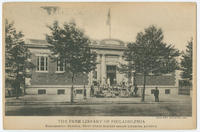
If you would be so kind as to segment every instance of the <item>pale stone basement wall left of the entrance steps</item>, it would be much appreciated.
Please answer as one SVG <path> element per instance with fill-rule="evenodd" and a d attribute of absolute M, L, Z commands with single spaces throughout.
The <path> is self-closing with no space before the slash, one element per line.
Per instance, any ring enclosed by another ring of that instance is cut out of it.
<path fill-rule="evenodd" d="M 90 98 L 90 87 L 85 86 L 86 98 Z M 45 94 L 38 94 L 39 90 L 45 90 Z M 58 94 L 58 90 L 64 90 L 64 94 Z M 81 93 L 75 91 L 81 90 Z M 79 101 L 84 98 L 84 87 L 82 85 L 74 86 L 74 101 Z M 26 94 L 32 96 L 34 101 L 49 101 L 49 102 L 70 102 L 71 100 L 71 86 L 70 85 L 31 85 L 26 89 Z"/>

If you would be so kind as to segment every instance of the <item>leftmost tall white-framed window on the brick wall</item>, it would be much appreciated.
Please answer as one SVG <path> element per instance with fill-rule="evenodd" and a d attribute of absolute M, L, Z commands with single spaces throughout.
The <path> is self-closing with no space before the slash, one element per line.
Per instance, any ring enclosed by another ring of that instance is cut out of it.
<path fill-rule="evenodd" d="M 37 71 L 48 71 L 48 57 L 47 56 L 37 57 Z"/>

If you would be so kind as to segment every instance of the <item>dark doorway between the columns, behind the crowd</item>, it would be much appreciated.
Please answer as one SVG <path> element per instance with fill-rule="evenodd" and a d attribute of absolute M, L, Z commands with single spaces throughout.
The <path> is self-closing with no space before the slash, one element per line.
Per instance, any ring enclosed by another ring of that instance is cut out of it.
<path fill-rule="evenodd" d="M 106 72 L 107 72 L 107 82 L 110 83 L 111 86 L 116 84 L 116 66 L 107 65 Z"/>

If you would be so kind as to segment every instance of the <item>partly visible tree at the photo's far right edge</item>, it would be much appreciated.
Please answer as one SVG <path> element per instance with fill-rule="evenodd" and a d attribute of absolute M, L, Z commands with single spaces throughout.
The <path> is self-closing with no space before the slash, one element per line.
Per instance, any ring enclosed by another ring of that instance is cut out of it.
<path fill-rule="evenodd" d="M 192 80 L 192 45 L 193 39 L 188 41 L 186 52 L 182 53 L 181 70 L 183 71 L 181 77 L 183 79 Z"/>

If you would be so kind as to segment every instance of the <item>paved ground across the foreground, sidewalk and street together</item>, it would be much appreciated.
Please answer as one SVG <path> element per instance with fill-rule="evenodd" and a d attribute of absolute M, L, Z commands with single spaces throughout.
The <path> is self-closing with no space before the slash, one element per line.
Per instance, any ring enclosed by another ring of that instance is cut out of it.
<path fill-rule="evenodd" d="M 40 96 L 45 98 L 45 96 Z M 44 102 L 32 96 L 6 98 L 6 115 L 20 116 L 191 116 L 190 96 L 161 96 L 160 102 L 147 95 L 134 98 L 88 98 L 72 105 L 58 102 L 57 98 Z M 28 100 L 27 100 L 28 99 Z M 55 102 L 57 101 L 57 102 Z"/>

